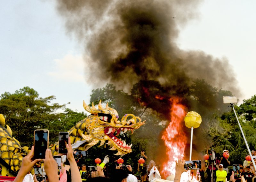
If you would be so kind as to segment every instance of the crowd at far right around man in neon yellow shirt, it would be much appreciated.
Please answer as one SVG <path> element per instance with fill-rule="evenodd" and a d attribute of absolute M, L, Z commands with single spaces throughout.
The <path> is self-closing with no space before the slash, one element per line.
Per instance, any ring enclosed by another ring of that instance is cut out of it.
<path fill-rule="evenodd" d="M 228 150 L 223 150 L 222 155 L 215 154 L 213 149 L 212 151 L 209 154 L 208 149 L 206 150 L 206 154 L 211 157 L 209 163 L 206 163 L 205 168 L 202 170 L 204 172 L 202 174 L 203 182 L 226 182 L 234 176 L 235 178 L 242 178 L 243 182 L 252 182 L 253 177 L 256 178 L 252 161 L 244 160 L 243 164 L 231 165 L 228 157 L 223 156 L 223 154 L 229 152 Z M 252 160 L 256 163 L 256 150 L 252 150 Z"/>

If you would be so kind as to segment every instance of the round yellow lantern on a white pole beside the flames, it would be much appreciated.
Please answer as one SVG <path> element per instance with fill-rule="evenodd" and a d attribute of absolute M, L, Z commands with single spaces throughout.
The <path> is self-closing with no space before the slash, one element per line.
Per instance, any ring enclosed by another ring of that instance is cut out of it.
<path fill-rule="evenodd" d="M 184 118 L 184 121 L 185 125 L 188 128 L 197 128 L 201 124 L 202 118 L 200 114 L 198 114 L 197 112 L 191 111 L 187 113 L 187 115 Z"/>

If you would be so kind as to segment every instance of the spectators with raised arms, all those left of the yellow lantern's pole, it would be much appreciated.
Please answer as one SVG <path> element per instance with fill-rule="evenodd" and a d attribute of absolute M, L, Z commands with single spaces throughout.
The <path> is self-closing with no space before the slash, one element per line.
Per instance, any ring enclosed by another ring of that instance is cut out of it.
<path fill-rule="evenodd" d="M 159 171 L 157 170 L 156 163 L 154 161 L 150 161 L 147 166 L 144 166 L 145 171 L 141 171 L 142 175 L 141 178 L 138 180 L 138 177 L 136 177 L 132 171 L 131 165 L 124 165 L 120 164 L 116 166 L 115 171 L 112 172 L 112 175 L 110 177 L 106 177 L 104 174 L 104 165 L 108 163 L 108 157 L 106 156 L 103 160 L 103 162 L 96 167 L 95 171 L 90 172 L 90 178 L 84 178 L 84 174 L 86 174 L 88 171 L 86 170 L 86 165 L 83 164 L 79 170 L 79 167 L 77 166 L 75 157 L 73 155 L 73 149 L 71 147 L 70 138 L 68 139 L 67 144 L 67 160 L 68 164 L 65 166 L 63 163 L 61 163 L 61 170 L 60 175 L 58 175 L 58 164 L 54 160 L 52 156 L 52 152 L 50 149 L 46 149 L 45 152 L 45 158 L 44 159 L 34 159 L 34 146 L 32 146 L 31 151 L 27 156 L 25 156 L 22 160 L 22 164 L 20 167 L 20 170 L 18 172 L 17 177 L 15 178 L 14 182 L 40 182 L 36 178 L 36 175 L 32 176 L 30 174 L 30 171 L 33 169 L 34 166 L 40 164 L 42 161 L 44 162 L 44 172 L 45 176 L 47 176 L 46 179 L 42 180 L 42 182 L 50 181 L 50 182 L 68 182 L 68 176 L 67 173 L 70 171 L 72 182 L 81 182 L 81 181 L 87 181 L 87 182 L 138 182 L 138 181 L 152 181 L 155 178 L 158 178 Z M 147 159 L 147 156 L 145 155 L 144 151 L 141 151 L 141 157 L 144 157 Z M 102 165 L 103 164 L 103 165 Z M 184 169 L 185 160 L 179 160 L 176 161 L 176 173 L 174 180 L 177 180 L 176 182 L 180 181 L 181 173 L 184 171 L 187 171 Z M 138 171 L 142 170 L 143 167 L 138 165 Z M 153 170 L 153 171 L 152 171 Z M 149 178 L 148 178 L 149 177 Z"/>

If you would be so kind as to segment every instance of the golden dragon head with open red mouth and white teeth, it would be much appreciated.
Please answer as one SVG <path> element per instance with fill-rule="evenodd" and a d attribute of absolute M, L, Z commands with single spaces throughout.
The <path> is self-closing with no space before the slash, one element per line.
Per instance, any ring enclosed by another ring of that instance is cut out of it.
<path fill-rule="evenodd" d="M 131 131 L 131 133 L 133 133 L 135 129 L 144 125 L 145 121 L 141 122 L 141 119 L 133 114 L 126 114 L 119 120 L 120 118 L 117 111 L 108 107 L 108 103 L 106 107 L 103 108 L 101 101 L 98 104 L 98 109 L 93 103 L 92 107 L 89 107 L 84 102 L 84 109 L 90 112 L 91 115 L 76 123 L 76 125 L 68 131 L 71 144 L 75 146 L 74 148 L 87 150 L 99 141 L 100 146 L 102 146 L 105 144 L 105 141 L 108 140 L 107 144 L 111 147 L 109 149 L 118 151 L 115 155 L 125 155 L 132 152 L 132 144 L 126 144 L 124 140 L 117 138 L 117 136 L 121 132 L 126 133 L 127 131 Z"/>

